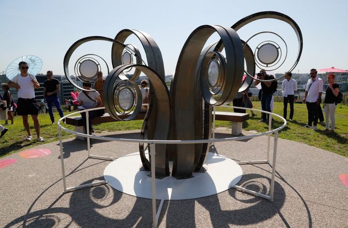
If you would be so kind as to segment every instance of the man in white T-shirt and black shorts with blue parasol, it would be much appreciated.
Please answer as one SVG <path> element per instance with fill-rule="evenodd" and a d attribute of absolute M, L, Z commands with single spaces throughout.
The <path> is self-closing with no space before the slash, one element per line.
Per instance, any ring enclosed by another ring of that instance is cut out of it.
<path fill-rule="evenodd" d="M 23 125 L 26 129 L 28 136 L 25 138 L 26 141 L 30 141 L 32 136 L 30 133 L 30 126 L 28 122 L 28 115 L 34 122 L 34 128 L 37 135 L 38 142 L 45 142 L 45 139 L 40 136 L 40 123 L 38 114 L 39 107 L 35 100 L 34 88 L 39 88 L 40 84 L 37 82 L 35 75 L 28 73 L 28 64 L 26 62 L 20 62 L 18 64 L 20 74 L 12 78 L 7 85 L 12 88 L 18 89 L 18 101 L 17 101 L 17 114 L 22 116 Z"/>

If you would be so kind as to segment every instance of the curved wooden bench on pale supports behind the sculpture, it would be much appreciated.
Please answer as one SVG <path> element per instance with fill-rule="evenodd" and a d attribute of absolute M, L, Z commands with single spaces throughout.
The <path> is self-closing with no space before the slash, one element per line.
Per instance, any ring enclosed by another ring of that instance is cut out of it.
<path fill-rule="evenodd" d="M 141 120 L 145 118 L 146 113 L 139 113 L 133 120 Z M 128 117 L 128 115 L 120 115 L 122 119 Z M 232 135 L 239 135 L 242 133 L 242 123 L 249 119 L 249 114 L 246 113 L 229 113 L 229 112 L 215 112 L 215 120 L 231 121 L 232 122 Z M 101 124 L 119 121 L 112 118 L 109 114 L 104 114 L 100 117 L 95 117 L 92 119 L 92 124 Z M 84 133 L 85 129 L 83 127 L 83 121 L 81 116 L 70 116 L 65 118 L 65 123 L 75 126 L 75 131 L 79 133 Z M 76 139 L 86 140 L 86 138 L 81 136 L 75 136 Z"/>

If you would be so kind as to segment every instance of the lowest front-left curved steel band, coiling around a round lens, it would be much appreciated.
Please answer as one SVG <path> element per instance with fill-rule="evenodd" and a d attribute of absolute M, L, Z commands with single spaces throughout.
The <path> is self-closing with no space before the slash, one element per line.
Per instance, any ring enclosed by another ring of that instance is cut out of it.
<path fill-rule="evenodd" d="M 109 75 L 107 75 L 104 88 L 103 88 L 103 98 L 105 98 L 105 101 L 106 101 L 106 104 L 105 104 L 106 112 L 109 113 L 110 116 L 112 116 L 113 118 L 122 120 L 119 117 L 117 117 L 117 114 L 114 110 L 113 87 L 114 87 L 114 83 L 116 79 L 118 78 L 118 75 L 121 74 L 122 71 L 132 67 L 145 73 L 145 75 L 149 78 L 151 85 L 156 90 L 155 99 L 157 100 L 157 103 L 158 103 L 158 106 L 157 106 L 158 112 L 161 115 L 158 115 L 156 122 L 153 126 L 153 139 L 154 140 L 169 140 L 170 125 L 171 125 L 169 91 L 166 87 L 166 83 L 164 82 L 164 80 L 162 80 L 161 76 L 158 75 L 156 71 L 152 70 L 148 66 L 139 65 L 139 64 L 121 65 L 116 67 L 114 70 L 110 72 Z M 140 110 L 140 106 L 142 103 L 141 92 L 136 84 L 135 86 L 138 93 L 136 109 L 133 112 L 133 114 L 131 114 L 131 116 L 123 120 L 131 120 L 132 118 L 136 116 L 136 114 L 138 114 L 138 111 Z M 138 106 L 138 104 L 140 105 Z M 149 166 L 149 167 L 151 166 L 150 162 L 145 157 L 144 151 L 140 153 L 140 158 L 143 163 L 143 166 Z M 156 160 L 156 163 L 155 163 L 156 178 L 163 178 L 165 176 L 168 176 L 169 175 L 169 149 L 167 148 L 166 144 L 156 145 L 155 160 Z"/>

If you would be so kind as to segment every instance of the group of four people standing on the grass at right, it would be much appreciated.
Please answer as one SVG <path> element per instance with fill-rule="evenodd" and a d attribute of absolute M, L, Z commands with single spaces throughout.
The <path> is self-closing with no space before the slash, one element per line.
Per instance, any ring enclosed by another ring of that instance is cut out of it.
<path fill-rule="evenodd" d="M 318 121 L 321 124 L 325 124 L 326 132 L 334 132 L 335 128 L 335 110 L 337 106 L 336 97 L 339 93 L 339 86 L 335 83 L 335 75 L 329 74 L 327 75 L 328 85 L 325 88 L 325 99 L 324 99 L 324 112 L 325 112 L 325 122 L 324 116 L 321 109 L 321 95 L 323 92 L 323 80 L 318 78 L 318 71 L 316 69 L 310 70 L 311 78 L 308 79 L 305 93 L 303 98 L 303 103 L 306 104 L 307 113 L 308 113 L 308 122 L 303 128 L 312 128 L 317 130 Z M 295 80 L 291 78 L 291 72 L 285 73 L 285 79 L 282 82 L 283 89 L 283 117 L 287 119 L 287 104 L 290 106 L 290 114 L 288 121 L 293 121 L 294 116 L 294 100 L 295 93 L 297 91 L 297 83 Z M 271 112 L 271 101 L 273 93 L 275 92 L 272 89 L 272 81 L 274 77 L 272 75 L 268 75 L 265 70 L 261 70 L 257 74 L 257 78 L 260 79 L 255 81 L 255 85 L 261 84 L 261 109 L 263 111 Z M 270 81 L 270 82 L 267 82 Z M 268 115 L 262 114 L 261 122 L 268 122 Z M 331 128 L 330 127 L 331 121 Z"/>

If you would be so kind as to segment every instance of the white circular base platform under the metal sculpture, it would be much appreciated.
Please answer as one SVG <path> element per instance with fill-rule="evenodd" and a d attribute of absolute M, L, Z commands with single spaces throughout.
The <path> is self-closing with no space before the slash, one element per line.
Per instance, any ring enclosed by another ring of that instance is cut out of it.
<path fill-rule="evenodd" d="M 104 170 L 106 182 L 113 188 L 136 197 L 152 199 L 150 171 L 140 171 L 139 152 L 120 157 Z M 228 157 L 208 153 L 203 167 L 193 178 L 177 180 L 172 176 L 156 179 L 156 199 L 196 199 L 211 196 L 236 185 L 242 168 Z"/>

